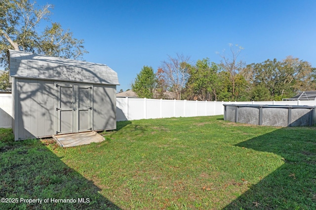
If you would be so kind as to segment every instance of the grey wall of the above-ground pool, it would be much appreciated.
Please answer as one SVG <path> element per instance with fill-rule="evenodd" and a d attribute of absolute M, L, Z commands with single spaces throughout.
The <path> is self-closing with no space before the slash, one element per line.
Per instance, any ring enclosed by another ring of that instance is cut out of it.
<path fill-rule="evenodd" d="M 253 125 L 312 126 L 316 106 L 223 104 L 224 120 Z"/>

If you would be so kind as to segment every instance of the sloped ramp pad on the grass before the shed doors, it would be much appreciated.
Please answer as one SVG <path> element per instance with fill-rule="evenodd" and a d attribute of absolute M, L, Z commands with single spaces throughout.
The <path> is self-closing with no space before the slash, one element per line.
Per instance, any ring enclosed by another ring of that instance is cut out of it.
<path fill-rule="evenodd" d="M 95 131 L 53 135 L 53 138 L 60 147 L 75 147 L 104 141 L 104 137 Z"/>

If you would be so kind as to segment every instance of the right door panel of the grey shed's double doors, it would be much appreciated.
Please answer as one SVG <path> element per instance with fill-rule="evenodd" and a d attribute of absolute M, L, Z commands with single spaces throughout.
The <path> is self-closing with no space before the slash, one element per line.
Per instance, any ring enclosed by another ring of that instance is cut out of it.
<path fill-rule="evenodd" d="M 78 110 L 76 110 L 77 122 L 77 132 L 92 130 L 91 126 L 91 86 L 78 86 L 76 94 L 76 105 Z M 77 130 L 76 129 L 76 130 Z"/>

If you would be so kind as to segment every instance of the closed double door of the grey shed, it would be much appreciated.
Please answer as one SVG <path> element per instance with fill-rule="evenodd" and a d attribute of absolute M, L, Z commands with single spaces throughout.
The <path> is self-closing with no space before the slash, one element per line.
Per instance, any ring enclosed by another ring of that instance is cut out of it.
<path fill-rule="evenodd" d="M 92 130 L 92 86 L 56 84 L 56 134 Z"/>

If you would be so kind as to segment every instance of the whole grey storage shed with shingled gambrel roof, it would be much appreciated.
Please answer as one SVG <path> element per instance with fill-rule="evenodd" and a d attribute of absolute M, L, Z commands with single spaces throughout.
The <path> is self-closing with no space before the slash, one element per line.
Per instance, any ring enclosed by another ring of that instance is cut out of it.
<path fill-rule="evenodd" d="M 109 66 L 9 50 L 15 140 L 116 129 Z"/>

